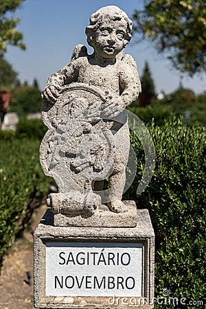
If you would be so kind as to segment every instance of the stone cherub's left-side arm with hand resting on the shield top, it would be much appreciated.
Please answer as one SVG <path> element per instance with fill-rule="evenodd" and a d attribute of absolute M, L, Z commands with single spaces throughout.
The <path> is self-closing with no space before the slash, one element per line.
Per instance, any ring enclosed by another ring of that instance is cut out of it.
<path fill-rule="evenodd" d="M 78 80 L 78 67 L 76 61 L 71 61 L 69 65 L 66 65 L 56 73 L 52 74 L 43 90 L 42 96 L 53 104 L 58 99 L 58 95 L 62 90 L 62 86 L 65 84 L 70 84 L 71 82 L 76 82 Z"/>

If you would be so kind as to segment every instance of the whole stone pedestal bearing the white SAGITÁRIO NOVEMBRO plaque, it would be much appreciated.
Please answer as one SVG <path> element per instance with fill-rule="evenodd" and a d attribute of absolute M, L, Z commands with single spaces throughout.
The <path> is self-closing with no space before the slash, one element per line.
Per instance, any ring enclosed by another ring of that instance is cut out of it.
<path fill-rule="evenodd" d="M 57 227 L 47 210 L 34 233 L 34 306 L 153 308 L 154 238 L 146 209 L 136 227 Z"/>

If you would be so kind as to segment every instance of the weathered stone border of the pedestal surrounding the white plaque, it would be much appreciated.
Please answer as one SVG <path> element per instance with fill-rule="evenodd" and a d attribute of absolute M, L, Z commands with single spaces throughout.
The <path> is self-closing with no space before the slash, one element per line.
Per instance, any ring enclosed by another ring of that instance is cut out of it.
<path fill-rule="evenodd" d="M 148 210 L 139 209 L 137 212 L 137 227 L 133 228 L 54 227 L 54 214 L 47 210 L 34 233 L 34 299 L 36 308 L 152 308 L 152 297 L 154 297 L 155 236 Z M 95 247 L 95 243 L 99 242 L 105 243 L 105 245 L 109 243 L 111 246 L 114 244 L 114 247 L 118 243 L 142 245 L 141 296 L 138 295 L 136 297 L 136 295 L 133 295 L 133 305 L 130 303 L 132 297 L 128 297 L 126 303 L 123 300 L 124 297 L 120 297 L 119 303 L 115 302 L 113 304 L 114 300 L 111 297 L 81 297 L 70 295 L 69 292 L 66 296 L 46 296 L 46 244 L 59 243 L 61 247 L 61 244 L 68 242 L 73 243 L 74 246 L 80 243 L 82 247 L 84 243 Z M 143 298 L 148 301 L 148 304 L 144 306 L 142 305 Z M 135 306 L 134 299 L 137 303 Z"/>

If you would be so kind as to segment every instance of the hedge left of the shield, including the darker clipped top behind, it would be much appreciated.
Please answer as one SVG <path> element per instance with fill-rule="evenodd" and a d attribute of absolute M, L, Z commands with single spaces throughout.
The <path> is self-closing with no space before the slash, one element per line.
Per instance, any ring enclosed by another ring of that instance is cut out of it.
<path fill-rule="evenodd" d="M 41 119 L 24 117 L 16 131 L 0 130 L 0 264 L 8 245 L 54 183 L 45 177 L 38 159 L 46 130 Z"/>

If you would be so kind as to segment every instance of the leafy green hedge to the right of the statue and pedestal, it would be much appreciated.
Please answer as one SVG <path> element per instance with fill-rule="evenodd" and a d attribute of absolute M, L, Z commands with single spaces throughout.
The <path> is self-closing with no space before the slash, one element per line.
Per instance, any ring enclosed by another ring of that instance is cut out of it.
<path fill-rule="evenodd" d="M 161 126 L 148 125 L 156 149 L 156 167 L 140 196 L 135 190 L 144 172 L 144 150 L 135 137 L 137 177 L 125 198 L 148 208 L 156 237 L 156 296 L 201 299 L 205 295 L 205 142 L 203 126 L 189 127 L 172 117 Z M 159 308 L 159 306 L 155 307 Z M 161 308 L 174 308 L 169 304 Z M 196 308 L 190 307 L 190 308 Z"/>

